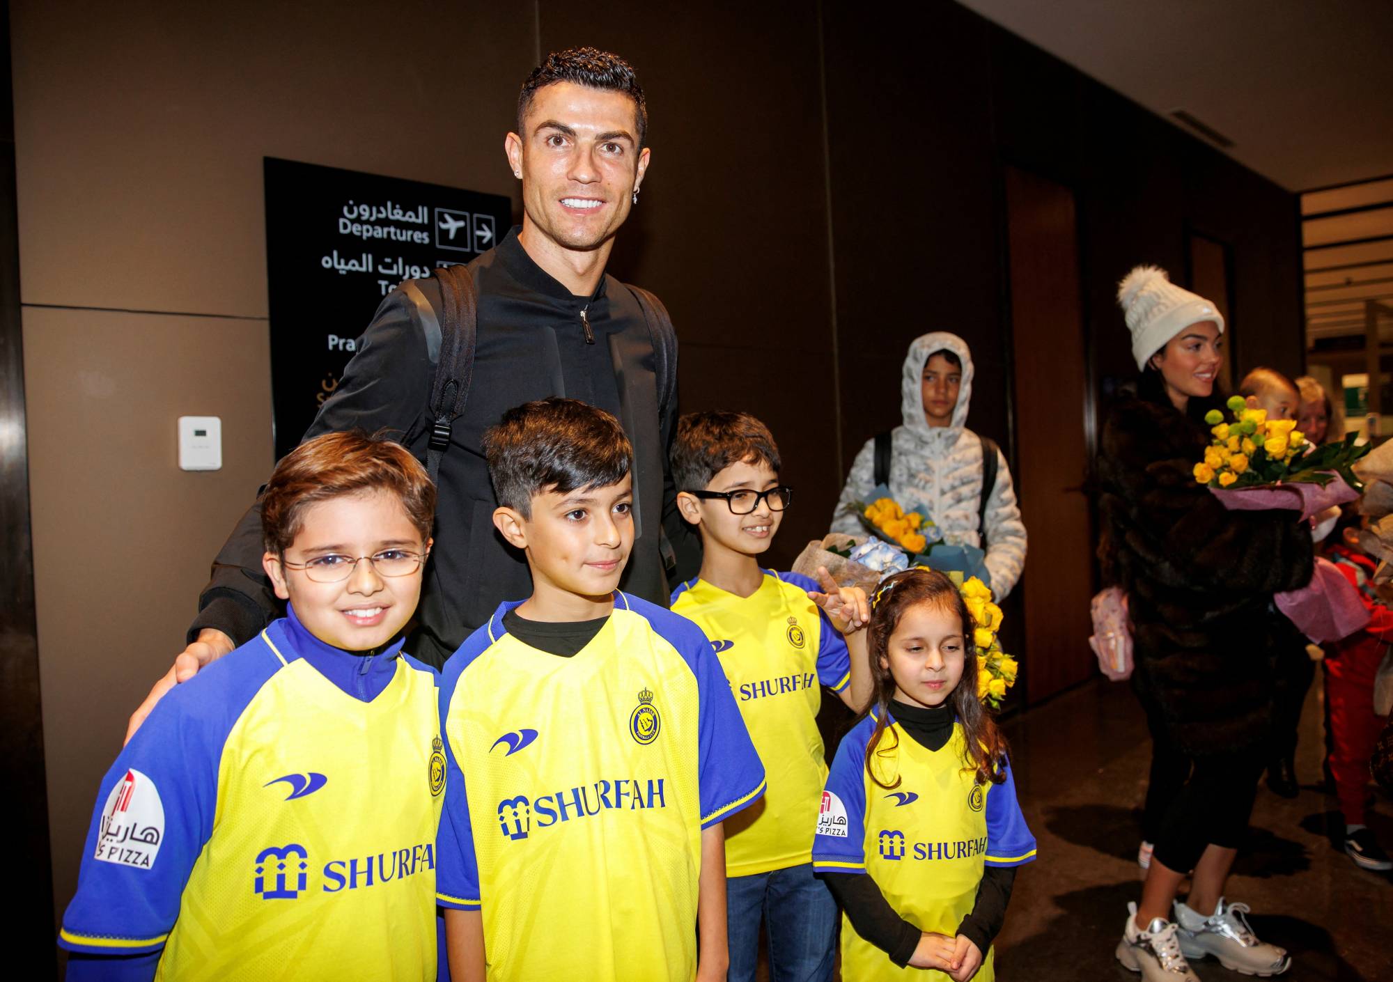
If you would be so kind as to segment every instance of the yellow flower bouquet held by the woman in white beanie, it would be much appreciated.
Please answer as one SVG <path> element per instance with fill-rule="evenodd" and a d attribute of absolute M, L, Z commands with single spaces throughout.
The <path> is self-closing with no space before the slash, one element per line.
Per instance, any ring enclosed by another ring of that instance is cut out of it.
<path fill-rule="evenodd" d="M 1268 419 L 1266 410 L 1250 407 L 1243 396 L 1234 396 L 1227 405 L 1231 421 L 1219 410 L 1205 415 L 1213 439 L 1205 458 L 1195 464 L 1198 483 L 1234 490 L 1290 483 L 1325 488 L 1339 478 L 1355 492 L 1361 488 L 1350 465 L 1368 447 L 1354 446 L 1354 433 L 1312 449 L 1294 419 Z"/>

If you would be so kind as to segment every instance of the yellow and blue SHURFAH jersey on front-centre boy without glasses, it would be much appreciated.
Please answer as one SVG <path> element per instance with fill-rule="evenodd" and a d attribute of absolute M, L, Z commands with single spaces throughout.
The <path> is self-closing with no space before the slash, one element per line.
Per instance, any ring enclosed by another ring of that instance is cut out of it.
<path fill-rule="evenodd" d="M 439 901 L 482 907 L 490 979 L 688 981 L 702 829 L 763 769 L 701 631 L 616 593 L 571 657 L 506 632 L 446 663 Z"/>

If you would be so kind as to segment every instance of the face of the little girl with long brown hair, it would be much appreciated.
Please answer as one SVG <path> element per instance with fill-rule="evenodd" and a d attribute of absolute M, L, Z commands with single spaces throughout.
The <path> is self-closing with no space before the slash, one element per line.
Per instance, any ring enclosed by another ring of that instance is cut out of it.
<path fill-rule="evenodd" d="M 926 600 L 900 614 L 880 667 L 894 678 L 894 698 L 911 706 L 942 706 L 963 680 L 967 638 L 949 603 Z"/>

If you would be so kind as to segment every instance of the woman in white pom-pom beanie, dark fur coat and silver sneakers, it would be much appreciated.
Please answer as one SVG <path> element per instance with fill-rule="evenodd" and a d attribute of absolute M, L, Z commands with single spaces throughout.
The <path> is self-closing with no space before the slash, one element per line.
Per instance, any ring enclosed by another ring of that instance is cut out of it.
<path fill-rule="evenodd" d="M 1208 954 L 1276 975 L 1290 956 L 1258 940 L 1247 905 L 1223 889 L 1266 763 L 1273 653 L 1302 642 L 1270 599 L 1309 581 L 1311 535 L 1295 513 L 1226 511 L 1194 479 L 1209 442 L 1204 414 L 1222 405 L 1224 325 L 1213 304 L 1153 266 L 1123 280 L 1119 302 L 1141 377 L 1103 429 L 1099 556 L 1128 595 L 1133 684 L 1156 752 L 1194 763 L 1159 818 L 1117 958 L 1148 982 L 1195 979 L 1187 957 Z"/>

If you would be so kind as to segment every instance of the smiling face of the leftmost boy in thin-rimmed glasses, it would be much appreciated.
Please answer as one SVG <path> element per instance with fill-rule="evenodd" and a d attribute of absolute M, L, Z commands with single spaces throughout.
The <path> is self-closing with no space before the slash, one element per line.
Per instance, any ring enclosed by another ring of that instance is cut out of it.
<path fill-rule="evenodd" d="M 299 533 L 284 559 L 295 566 L 326 556 L 378 556 L 391 550 L 425 554 L 430 542 L 387 492 L 341 494 L 319 501 L 304 513 Z M 319 584 L 305 570 L 281 564 L 276 553 L 262 557 L 262 567 L 276 596 L 290 600 L 299 623 L 320 641 L 350 652 L 380 648 L 401 632 L 421 599 L 425 563 L 404 577 L 383 577 L 361 560 L 347 579 Z M 333 563 L 330 560 L 329 563 Z"/>

